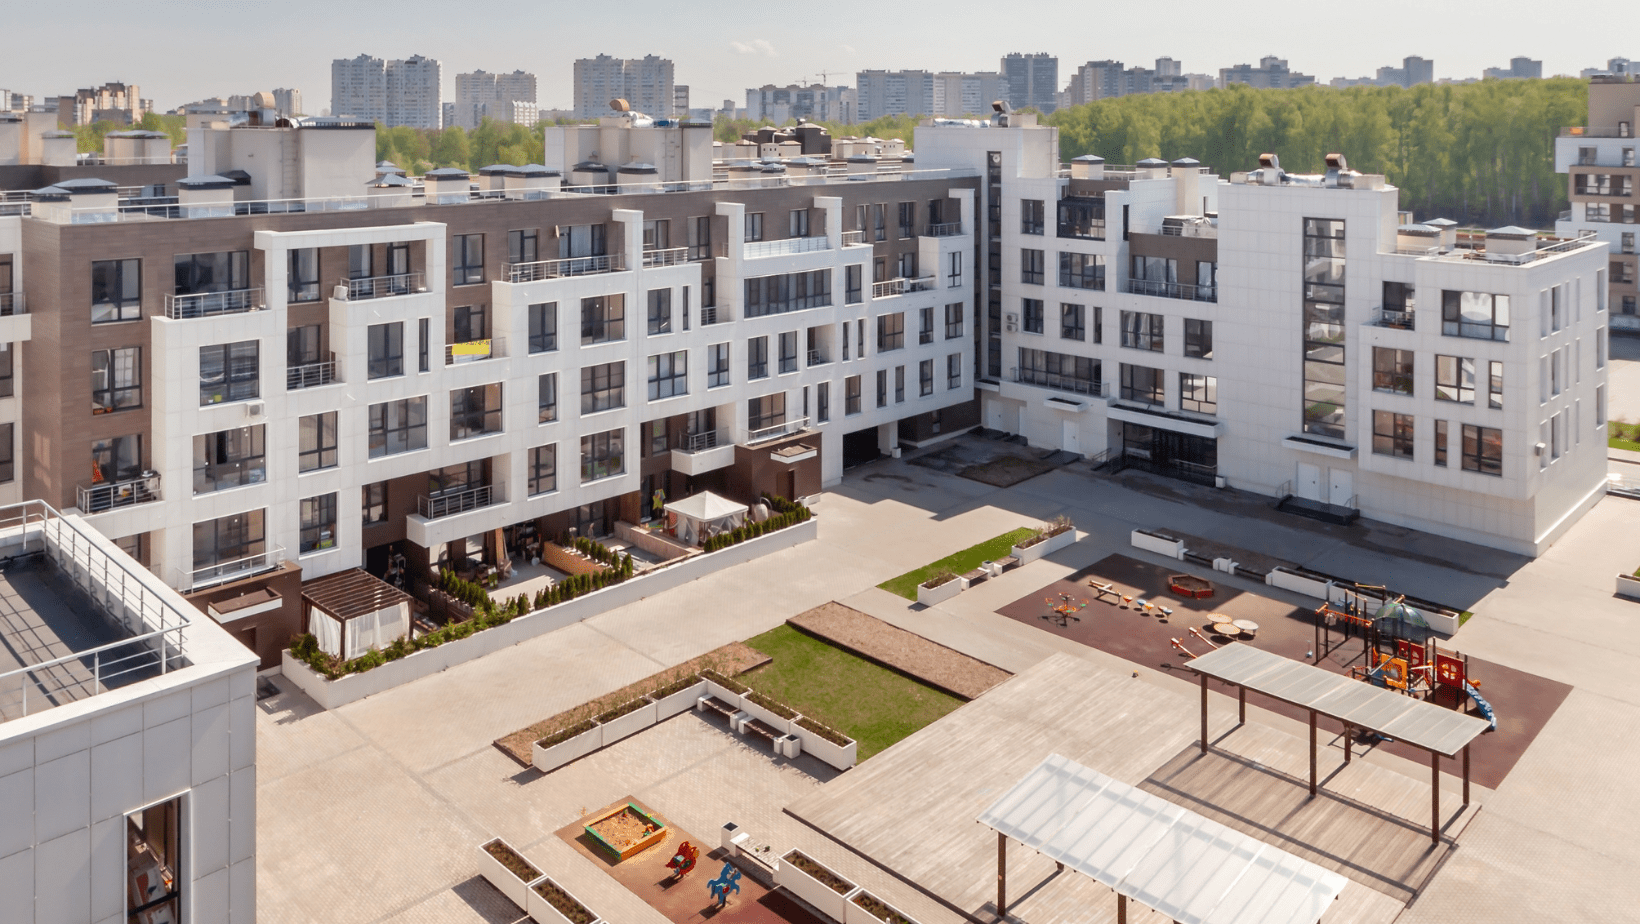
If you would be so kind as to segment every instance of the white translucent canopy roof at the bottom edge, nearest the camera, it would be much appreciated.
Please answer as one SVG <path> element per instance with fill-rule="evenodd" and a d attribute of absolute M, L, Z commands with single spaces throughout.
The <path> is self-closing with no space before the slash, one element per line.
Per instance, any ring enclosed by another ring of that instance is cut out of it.
<path fill-rule="evenodd" d="M 1315 924 L 1346 881 L 1061 755 L 977 821 L 1179 924 Z"/>

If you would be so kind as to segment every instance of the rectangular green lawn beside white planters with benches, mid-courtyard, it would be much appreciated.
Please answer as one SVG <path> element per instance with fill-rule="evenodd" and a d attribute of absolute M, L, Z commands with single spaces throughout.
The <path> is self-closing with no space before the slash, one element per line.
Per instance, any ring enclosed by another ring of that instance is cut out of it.
<path fill-rule="evenodd" d="M 859 742 L 859 760 L 954 711 L 961 699 L 781 625 L 746 645 L 774 658 L 738 679 Z"/>

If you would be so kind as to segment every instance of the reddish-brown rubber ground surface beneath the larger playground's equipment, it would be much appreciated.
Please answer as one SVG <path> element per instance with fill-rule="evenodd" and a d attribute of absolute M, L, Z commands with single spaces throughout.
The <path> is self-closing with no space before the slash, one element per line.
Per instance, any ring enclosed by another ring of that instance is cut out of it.
<path fill-rule="evenodd" d="M 1169 671 L 1191 683 L 1196 683 L 1196 675 L 1184 668 L 1189 658 L 1171 645 L 1171 638 L 1179 638 L 1186 648 L 1204 655 L 1210 650 L 1209 642 L 1191 635 L 1189 630 L 1197 629 L 1207 638 L 1223 643 L 1225 638 L 1215 637 L 1210 624 L 1232 619 L 1250 619 L 1260 627 L 1251 640 L 1240 638 L 1240 642 L 1297 661 L 1309 661 L 1307 653 L 1315 647 L 1314 609 L 1292 607 L 1269 597 L 1227 588 L 1219 581 L 1214 581 L 1212 597 L 1186 599 L 1168 591 L 1169 573 L 1166 568 L 1125 555 L 1110 555 L 1004 606 L 997 612 L 1133 663 Z M 1099 599 L 1094 588 L 1087 584 L 1089 579 L 1114 584 L 1123 596 L 1166 606 L 1173 615 L 1148 614 L 1130 604 L 1107 602 L 1112 599 L 1110 596 Z M 1086 606 L 1082 606 L 1084 602 Z M 1068 611 L 1069 615 L 1055 612 L 1055 607 Z M 1222 619 L 1209 619 L 1209 614 L 1219 614 Z M 1486 614 L 1476 615 L 1476 619 L 1484 617 Z M 1448 645 L 1442 647 L 1448 648 Z M 1333 627 L 1332 645 L 1320 666 L 1348 673 L 1350 666 L 1366 663 L 1364 648 L 1360 637 L 1342 640 L 1338 627 Z M 1555 711 L 1560 709 L 1566 694 L 1571 693 L 1571 686 L 1479 658 L 1469 660 L 1469 676 L 1479 681 L 1481 694 L 1491 701 L 1497 714 L 1497 730 L 1481 735 L 1471 747 L 1471 780 L 1479 786 L 1496 789 Z M 1235 688 L 1228 684 L 1220 684 L 1217 689 L 1235 696 Z M 1248 702 L 1301 722 L 1309 720 L 1305 711 L 1256 693 L 1248 693 Z M 1228 709 L 1233 704 L 1227 706 L 1219 701 L 1212 707 Z M 1338 727 L 1323 719 L 1322 732 L 1322 740 L 1327 740 L 1338 735 Z M 1401 742 L 1381 742 L 1376 747 L 1428 765 L 1425 752 Z M 1445 770 L 1456 771 L 1456 766 L 1445 766 Z"/>

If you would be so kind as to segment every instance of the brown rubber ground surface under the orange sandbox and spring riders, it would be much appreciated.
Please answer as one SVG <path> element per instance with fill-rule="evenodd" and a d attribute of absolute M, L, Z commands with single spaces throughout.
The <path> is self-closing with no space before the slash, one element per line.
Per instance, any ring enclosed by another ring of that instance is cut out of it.
<path fill-rule="evenodd" d="M 579 819 L 574 824 L 558 829 L 554 834 L 576 849 L 577 853 L 597 863 L 615 881 L 641 898 L 649 908 L 664 914 L 676 924 L 827 924 L 804 911 L 784 893 L 772 893 L 758 880 L 741 875 L 740 893 L 728 896 L 728 906 L 718 908 L 712 899 L 707 883 L 723 871 L 722 850 L 713 842 L 705 842 L 672 824 L 664 814 L 651 806 L 626 796 L 592 812 L 595 817 L 608 809 L 631 803 L 666 824 L 666 837 L 641 853 L 617 862 L 613 855 L 587 837 Z M 690 842 L 699 849 L 700 858 L 695 868 L 682 880 L 672 878 L 672 870 L 666 867 L 682 842 Z"/>

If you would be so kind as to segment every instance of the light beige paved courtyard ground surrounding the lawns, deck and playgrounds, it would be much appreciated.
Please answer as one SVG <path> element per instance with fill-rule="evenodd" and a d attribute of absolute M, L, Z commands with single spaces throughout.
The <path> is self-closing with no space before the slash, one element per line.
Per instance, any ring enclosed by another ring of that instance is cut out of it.
<path fill-rule="evenodd" d="M 1640 604 L 1612 596 L 1612 574 L 1640 565 L 1630 542 L 1640 502 L 1602 501 L 1535 561 L 1383 524 L 1302 520 L 1274 514 L 1263 499 L 1141 473 L 1112 479 L 1086 463 L 997 489 L 882 460 L 854 469 L 815 509 L 817 542 L 333 712 L 282 684 L 285 693 L 261 702 L 257 717 L 259 914 L 294 924 L 515 921 L 522 913 L 474 863 L 477 845 L 502 835 L 600 914 L 659 924 L 654 909 L 553 837 L 630 793 L 707 839 L 733 821 L 776 852 L 802 847 L 923 924 L 954 924 L 951 909 L 782 811 L 833 776 L 810 758 L 772 758 L 694 714 L 549 776 L 520 770 L 490 742 L 831 599 L 1014 673 L 1068 653 L 1137 671 L 1135 683 L 1187 693 L 1187 679 L 995 612 L 1112 553 L 1163 565 L 1130 547 L 1133 528 L 1176 528 L 1473 609 L 1476 617 L 1450 647 L 1571 686 L 1397 921 L 1615 921 L 1640 906 L 1640 881 L 1630 873 L 1640 865 L 1640 840 L 1629 830 L 1640 817 L 1640 789 L 1629 784 L 1640 745 L 1625 734 L 1640 724 Z M 876 588 L 1058 514 L 1086 533 L 1079 543 L 940 607 Z M 1314 606 L 1263 584 L 1214 578 Z M 1282 716 L 1250 709 L 1250 717 L 1297 734 Z M 887 757 L 892 750 L 874 760 Z M 1399 758 L 1368 760 L 1405 773 Z M 1427 783 L 1427 770 L 1420 776 Z M 992 871 L 963 875 L 982 883 Z"/>

